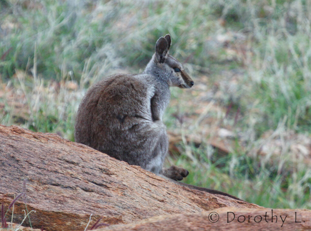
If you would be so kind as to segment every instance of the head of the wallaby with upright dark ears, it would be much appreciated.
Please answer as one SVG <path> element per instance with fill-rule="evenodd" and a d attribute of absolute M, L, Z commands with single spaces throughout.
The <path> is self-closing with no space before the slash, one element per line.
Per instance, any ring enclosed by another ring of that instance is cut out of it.
<path fill-rule="evenodd" d="M 193 80 L 184 70 L 183 65 L 169 55 L 171 36 L 169 34 L 160 37 L 156 42 L 155 53 L 146 66 L 144 73 L 157 75 L 161 80 L 167 81 L 169 86 L 179 88 L 191 88 Z"/>

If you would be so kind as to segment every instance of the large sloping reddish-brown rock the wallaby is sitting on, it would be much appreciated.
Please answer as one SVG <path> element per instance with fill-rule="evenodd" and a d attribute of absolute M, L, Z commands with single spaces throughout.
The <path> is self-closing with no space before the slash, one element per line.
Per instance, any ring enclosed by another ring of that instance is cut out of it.
<path fill-rule="evenodd" d="M 0 153 L 0 202 L 7 209 L 14 195 L 26 192 L 14 204 L 13 222 L 23 220 L 27 206 L 36 211 L 32 227 L 48 231 L 84 230 L 91 214 L 89 227 L 99 218 L 112 225 L 227 206 L 260 208 L 175 184 L 56 134 L 0 125 Z M 11 216 L 12 208 L 7 221 Z"/>

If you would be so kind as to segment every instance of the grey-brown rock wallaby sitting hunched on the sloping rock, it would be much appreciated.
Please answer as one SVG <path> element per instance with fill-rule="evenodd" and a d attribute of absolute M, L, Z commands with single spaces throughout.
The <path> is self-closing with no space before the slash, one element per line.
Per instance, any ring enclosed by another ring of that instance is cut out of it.
<path fill-rule="evenodd" d="M 169 87 L 191 88 L 183 65 L 169 55 L 171 37 L 160 37 L 142 74 L 113 75 L 87 91 L 79 106 L 75 140 L 130 165 L 182 180 L 188 171 L 162 169 L 168 137 L 162 116 L 169 104 Z"/>

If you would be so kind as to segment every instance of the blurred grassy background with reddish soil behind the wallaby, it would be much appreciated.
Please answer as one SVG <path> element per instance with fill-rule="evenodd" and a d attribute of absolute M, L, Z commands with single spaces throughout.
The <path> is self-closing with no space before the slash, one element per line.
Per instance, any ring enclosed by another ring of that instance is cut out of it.
<path fill-rule="evenodd" d="M 87 88 L 140 73 L 160 36 L 171 88 L 165 165 L 186 183 L 311 209 L 311 0 L 0 1 L 0 123 L 74 141 Z"/>

